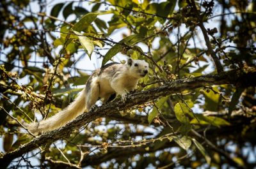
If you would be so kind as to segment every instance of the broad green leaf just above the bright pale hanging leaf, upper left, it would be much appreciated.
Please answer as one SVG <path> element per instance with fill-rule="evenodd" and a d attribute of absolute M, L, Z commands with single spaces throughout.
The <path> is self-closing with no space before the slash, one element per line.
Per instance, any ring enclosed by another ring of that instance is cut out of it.
<path fill-rule="evenodd" d="M 97 15 L 98 13 L 87 13 L 78 22 L 76 22 L 76 24 L 74 24 L 72 29 L 78 32 L 84 31 L 86 27 L 92 24 L 95 18 L 97 18 Z"/>

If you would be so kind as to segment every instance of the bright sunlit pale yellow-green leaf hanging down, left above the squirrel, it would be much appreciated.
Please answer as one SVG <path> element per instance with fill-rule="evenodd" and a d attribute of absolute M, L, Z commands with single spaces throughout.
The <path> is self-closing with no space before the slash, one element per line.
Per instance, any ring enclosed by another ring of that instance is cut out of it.
<path fill-rule="evenodd" d="M 72 31 L 77 34 L 77 38 L 79 39 L 81 45 L 83 46 L 84 50 L 86 50 L 86 53 L 89 55 L 91 59 L 91 55 L 94 49 L 93 41 L 77 31 Z"/>

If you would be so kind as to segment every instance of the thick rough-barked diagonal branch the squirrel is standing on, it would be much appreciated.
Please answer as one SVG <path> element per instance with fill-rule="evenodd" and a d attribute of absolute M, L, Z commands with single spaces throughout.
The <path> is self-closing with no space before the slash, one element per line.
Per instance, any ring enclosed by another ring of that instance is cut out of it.
<path fill-rule="evenodd" d="M 253 73 L 239 73 L 239 71 L 229 71 L 221 75 L 205 75 L 195 78 L 184 78 L 168 82 L 160 87 L 148 89 L 147 91 L 136 92 L 127 96 L 127 101 L 116 101 L 114 103 L 103 105 L 102 107 L 90 110 L 82 115 L 79 115 L 74 121 L 68 122 L 62 128 L 56 129 L 49 133 L 44 133 L 40 136 L 33 138 L 31 142 L 26 143 L 12 152 L 3 154 L 0 158 L 0 163 L 8 165 L 10 161 L 20 157 L 22 154 L 33 151 L 38 146 L 45 145 L 45 143 L 55 142 L 60 138 L 65 138 L 72 133 L 75 129 L 81 128 L 84 124 L 91 122 L 99 117 L 106 117 L 111 114 L 115 114 L 120 110 L 131 108 L 134 105 L 140 105 L 147 101 L 152 101 L 169 94 L 180 92 L 188 89 L 196 89 L 198 87 L 204 87 L 206 85 L 220 85 L 220 84 L 234 84 L 239 86 L 256 85 L 256 72 Z M 119 113 L 119 112 L 118 112 Z"/>

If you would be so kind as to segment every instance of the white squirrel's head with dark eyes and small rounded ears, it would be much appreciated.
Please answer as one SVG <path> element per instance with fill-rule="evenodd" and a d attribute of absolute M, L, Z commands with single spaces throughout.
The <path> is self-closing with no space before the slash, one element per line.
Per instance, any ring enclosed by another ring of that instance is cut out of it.
<path fill-rule="evenodd" d="M 128 59 L 127 65 L 129 66 L 130 73 L 135 77 L 145 77 L 148 73 L 148 63 L 143 60 Z"/>

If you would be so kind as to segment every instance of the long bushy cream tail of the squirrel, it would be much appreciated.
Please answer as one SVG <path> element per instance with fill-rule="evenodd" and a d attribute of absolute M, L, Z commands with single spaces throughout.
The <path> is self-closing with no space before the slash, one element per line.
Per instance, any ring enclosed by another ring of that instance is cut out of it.
<path fill-rule="evenodd" d="M 68 121 L 75 119 L 77 115 L 82 114 L 86 110 L 86 92 L 85 88 L 79 93 L 77 98 L 58 114 L 40 122 L 33 122 L 26 127 L 32 133 L 40 133 L 51 131 L 66 124 Z"/>

